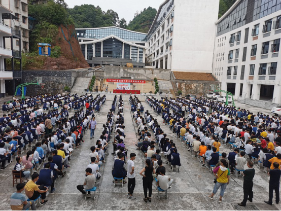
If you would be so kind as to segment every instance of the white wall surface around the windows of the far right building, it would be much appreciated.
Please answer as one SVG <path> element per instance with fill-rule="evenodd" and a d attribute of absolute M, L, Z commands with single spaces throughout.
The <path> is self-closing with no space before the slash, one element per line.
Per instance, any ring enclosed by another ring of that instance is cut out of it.
<path fill-rule="evenodd" d="M 213 67 L 213 75 L 217 75 L 221 73 L 223 76 L 216 76 L 217 79 L 222 82 L 222 90 L 227 90 L 227 83 L 235 83 L 236 84 L 236 92 L 235 92 L 235 98 L 238 98 L 240 95 L 240 84 L 243 84 L 243 91 L 242 95 L 246 95 L 247 97 L 250 97 L 251 93 L 251 84 L 253 84 L 253 92 L 252 94 L 254 95 L 253 99 L 260 99 L 260 85 L 274 85 L 274 95 L 273 98 L 276 97 L 276 103 L 281 103 L 281 74 L 278 74 L 281 72 L 281 61 L 280 61 L 280 56 L 281 56 L 281 48 L 279 50 L 279 55 L 278 57 L 273 57 L 274 54 L 272 54 L 271 51 L 271 44 L 273 44 L 274 40 L 280 39 L 281 38 L 281 33 L 276 33 L 276 32 L 281 32 L 281 29 L 271 29 L 270 33 L 263 33 L 262 28 L 263 25 L 265 24 L 265 21 L 273 19 L 273 21 L 276 20 L 276 17 L 281 15 L 281 11 L 277 11 L 271 15 L 268 15 L 266 17 L 263 17 L 259 20 L 256 20 L 252 23 L 249 23 L 247 25 L 241 26 L 240 28 L 237 28 L 235 30 L 232 30 L 228 33 L 222 34 L 219 37 L 216 37 L 215 41 L 215 54 L 214 54 L 214 67 Z M 272 27 L 273 27 L 273 21 L 272 21 Z M 252 37 L 252 29 L 254 28 L 255 25 L 260 24 L 260 30 L 259 30 L 259 36 L 253 38 Z M 249 28 L 249 40 L 248 43 L 244 44 L 244 38 L 245 38 L 245 29 Z M 231 37 L 231 34 L 241 31 L 241 41 L 234 43 L 234 46 L 231 47 L 229 44 L 229 39 Z M 267 37 L 268 36 L 268 37 Z M 218 40 L 224 39 L 224 41 L 218 42 Z M 262 51 L 262 43 L 264 42 L 270 42 L 269 43 L 269 53 L 268 53 L 268 58 L 261 58 L 261 51 Z M 257 55 L 256 59 L 251 57 L 251 49 L 253 45 L 258 45 L 257 47 Z M 219 45 L 219 47 L 218 47 Z M 247 59 L 245 62 L 242 61 L 242 56 L 243 56 L 243 48 L 248 47 L 247 49 Z M 238 62 L 235 62 L 235 50 L 240 49 L 239 53 L 239 58 Z M 233 62 L 230 63 L 228 60 L 228 54 L 229 51 L 233 50 Z M 221 58 L 222 56 L 218 56 L 217 54 L 219 53 L 225 53 L 224 55 L 224 60 L 217 61 L 217 58 Z M 276 55 L 276 54 L 275 54 Z M 277 63 L 277 74 L 276 74 L 276 80 L 275 81 L 270 81 L 269 80 L 269 75 L 268 75 L 268 67 L 271 65 L 271 62 L 278 62 Z M 259 80 L 259 67 L 261 63 L 267 63 L 267 71 L 266 71 L 266 80 Z M 255 75 L 254 75 L 254 80 L 250 80 L 250 65 L 255 64 Z M 245 65 L 245 74 L 244 74 L 244 80 L 240 80 L 241 76 L 241 67 L 242 65 Z M 232 66 L 232 76 L 231 79 L 227 79 L 227 68 L 229 66 Z M 234 71 L 234 66 L 238 66 L 238 72 L 237 72 L 237 79 L 233 80 L 233 71 Z M 217 68 L 217 71 L 216 71 Z M 223 68 L 223 71 L 218 72 L 219 68 Z M 217 74 L 216 74 L 217 73 Z M 237 88 L 237 86 L 239 88 Z"/>

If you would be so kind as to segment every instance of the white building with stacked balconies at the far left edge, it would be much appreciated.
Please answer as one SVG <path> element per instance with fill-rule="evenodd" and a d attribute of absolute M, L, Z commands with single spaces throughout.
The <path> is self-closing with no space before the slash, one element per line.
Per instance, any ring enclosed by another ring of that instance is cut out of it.
<path fill-rule="evenodd" d="M 0 20 L 3 20 L 3 14 L 10 14 L 12 11 L 0 4 Z M 5 97 L 6 84 L 5 80 L 13 79 L 13 72 L 5 71 L 4 59 L 12 58 L 12 50 L 6 46 L 5 37 L 12 36 L 11 27 L 0 22 L 0 97 Z"/>

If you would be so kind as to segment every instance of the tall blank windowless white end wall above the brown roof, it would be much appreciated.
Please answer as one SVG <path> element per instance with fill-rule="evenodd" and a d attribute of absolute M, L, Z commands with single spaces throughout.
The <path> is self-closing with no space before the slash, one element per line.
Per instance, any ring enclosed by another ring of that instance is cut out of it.
<path fill-rule="evenodd" d="M 219 0 L 175 0 L 171 69 L 212 73 Z"/>

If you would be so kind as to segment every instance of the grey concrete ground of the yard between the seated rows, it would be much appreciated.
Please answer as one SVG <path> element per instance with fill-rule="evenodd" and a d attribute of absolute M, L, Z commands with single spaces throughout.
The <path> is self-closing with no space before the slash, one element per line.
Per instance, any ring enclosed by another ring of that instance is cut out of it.
<path fill-rule="evenodd" d="M 118 96 L 119 97 L 119 96 Z M 212 193 L 214 188 L 214 175 L 211 174 L 202 164 L 199 164 L 198 158 L 192 157 L 179 139 L 176 139 L 174 134 L 165 126 L 161 117 L 158 116 L 161 128 L 168 134 L 168 138 L 173 139 L 177 145 L 182 158 L 182 167 L 180 172 L 172 172 L 167 164 L 164 166 L 167 169 L 167 175 L 174 179 L 172 188 L 168 191 L 168 199 L 158 199 L 157 192 L 153 191 L 152 203 L 145 203 L 142 177 L 139 172 L 144 167 L 144 159 L 139 151 L 136 150 L 136 127 L 132 120 L 130 112 L 130 104 L 125 101 L 124 119 L 125 119 L 125 144 L 128 148 L 128 155 L 132 152 L 136 153 L 135 172 L 136 172 L 136 187 L 134 196 L 136 200 L 127 198 L 127 185 L 113 186 L 112 164 L 113 152 L 112 144 L 109 145 L 109 156 L 107 163 L 104 164 L 100 172 L 101 180 L 97 182 L 96 198 L 87 199 L 85 201 L 77 189 L 77 185 L 82 185 L 84 182 L 84 174 L 87 165 L 90 163 L 89 153 L 90 147 L 95 145 L 96 139 L 102 132 L 102 125 L 107 121 L 107 114 L 111 108 L 112 100 L 108 99 L 101 112 L 97 115 L 97 130 L 94 140 L 90 140 L 89 131 L 85 135 L 85 143 L 74 151 L 71 168 L 67 169 L 65 178 L 59 178 L 56 181 L 56 191 L 49 194 L 49 202 L 43 207 L 38 207 L 38 210 L 280 210 L 281 205 L 268 206 L 263 203 L 268 200 L 268 182 L 269 177 L 263 172 L 263 169 L 256 169 L 256 177 L 254 179 L 254 203 L 248 203 L 247 207 L 238 207 L 237 203 L 243 198 L 243 180 L 242 178 L 231 177 L 230 184 L 227 187 L 223 203 L 219 204 L 219 195 L 215 196 L 212 201 L 207 198 L 207 195 Z M 149 110 L 156 117 L 156 114 L 150 109 L 149 105 L 143 101 L 145 110 Z M 220 152 L 230 152 L 226 147 L 222 147 Z M 164 160 L 164 157 L 162 157 Z M 12 187 L 11 172 L 14 168 L 15 161 L 5 170 L 0 172 L 0 210 L 10 210 L 10 196 L 15 192 Z"/>

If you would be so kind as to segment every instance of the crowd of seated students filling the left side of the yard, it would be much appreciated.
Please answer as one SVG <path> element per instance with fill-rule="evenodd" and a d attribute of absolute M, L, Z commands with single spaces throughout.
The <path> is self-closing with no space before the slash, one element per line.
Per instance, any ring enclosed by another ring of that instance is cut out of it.
<path fill-rule="evenodd" d="M 10 163 L 12 155 L 19 155 L 20 152 L 23 154 L 27 150 L 23 157 L 16 157 L 17 163 L 14 170 L 21 173 L 21 177 L 26 182 L 24 187 L 26 196 L 31 200 L 30 204 L 34 208 L 33 200 L 37 200 L 40 196 L 39 203 L 45 204 L 49 188 L 53 193 L 55 180 L 59 175 L 62 178 L 65 177 L 64 168 L 70 167 L 69 161 L 73 150 L 84 142 L 83 134 L 88 127 L 89 120 L 94 116 L 92 108 L 97 103 L 103 105 L 106 96 L 97 95 L 94 98 L 92 95 L 80 97 L 78 95 L 44 95 L 17 101 L 20 109 L 13 107 L 10 114 L 5 114 L 3 118 L 0 118 L 0 130 L 2 131 L 0 154 L 3 152 L 1 158 L 5 159 L 6 165 L 6 160 Z M 86 102 L 90 105 L 85 111 Z M 40 105 L 46 106 L 46 108 L 41 109 Z M 71 109 L 75 110 L 75 114 L 68 119 L 68 112 Z M 12 121 L 14 118 L 17 120 Z M 50 122 L 51 124 L 48 126 Z M 69 128 L 64 130 L 62 124 Z M 2 146 L 3 150 L 1 150 Z M 44 164 L 39 174 L 36 173 L 36 164 L 38 163 L 40 166 L 45 160 L 47 163 Z M 5 165 L 2 162 L 3 169 L 5 169 Z M 29 180 L 31 171 L 34 173 Z M 19 186 L 18 189 L 22 189 L 23 185 Z M 22 200 L 23 205 L 26 205 L 24 201 Z"/>

